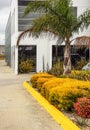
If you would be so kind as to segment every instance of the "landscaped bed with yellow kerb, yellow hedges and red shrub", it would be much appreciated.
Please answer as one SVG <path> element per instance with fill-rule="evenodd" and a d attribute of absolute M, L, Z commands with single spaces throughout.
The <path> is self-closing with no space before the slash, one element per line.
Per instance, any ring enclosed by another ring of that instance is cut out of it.
<path fill-rule="evenodd" d="M 77 77 L 77 73 L 74 77 Z M 29 82 L 24 83 L 24 86 L 64 130 L 80 130 L 80 128 L 88 130 L 90 127 L 90 81 L 86 77 L 88 77 L 87 73 L 84 74 L 87 81 L 72 79 L 73 77 L 57 78 L 42 72 L 34 74 Z"/>

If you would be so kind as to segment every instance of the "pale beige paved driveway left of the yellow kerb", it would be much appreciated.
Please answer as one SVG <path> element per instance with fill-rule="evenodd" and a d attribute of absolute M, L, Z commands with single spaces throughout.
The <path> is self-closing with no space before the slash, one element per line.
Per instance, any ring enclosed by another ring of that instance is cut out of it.
<path fill-rule="evenodd" d="M 0 61 L 0 130 L 62 130 L 23 87 L 30 76 L 15 75 Z"/>

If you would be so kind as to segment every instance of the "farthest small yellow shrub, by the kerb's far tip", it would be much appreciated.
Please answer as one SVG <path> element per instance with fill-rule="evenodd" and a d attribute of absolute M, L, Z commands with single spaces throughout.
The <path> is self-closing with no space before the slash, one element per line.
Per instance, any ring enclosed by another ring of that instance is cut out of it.
<path fill-rule="evenodd" d="M 40 77 L 43 77 L 43 78 L 52 78 L 54 77 L 53 75 L 50 75 L 50 74 L 47 74 L 47 73 L 44 73 L 44 72 L 41 72 L 41 73 L 37 73 L 37 74 L 34 74 L 31 79 L 30 79 L 30 82 L 32 83 L 32 86 L 34 88 L 36 88 L 37 86 L 37 80 L 38 78 Z"/>

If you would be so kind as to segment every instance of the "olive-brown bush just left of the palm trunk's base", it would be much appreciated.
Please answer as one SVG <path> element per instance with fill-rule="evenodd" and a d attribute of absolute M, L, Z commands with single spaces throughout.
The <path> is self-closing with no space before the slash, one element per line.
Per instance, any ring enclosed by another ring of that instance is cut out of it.
<path fill-rule="evenodd" d="M 48 71 L 49 74 L 52 74 L 54 76 L 60 77 L 61 74 L 63 74 L 63 64 L 62 62 L 58 61 L 51 70 Z"/>

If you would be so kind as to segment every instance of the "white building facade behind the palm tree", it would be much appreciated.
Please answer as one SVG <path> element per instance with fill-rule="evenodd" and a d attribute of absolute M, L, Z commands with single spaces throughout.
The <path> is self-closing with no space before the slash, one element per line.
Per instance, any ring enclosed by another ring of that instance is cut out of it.
<path fill-rule="evenodd" d="M 40 14 L 30 13 L 23 17 L 24 9 L 28 2 L 31 0 L 12 0 L 11 1 L 11 11 L 6 27 L 6 62 L 18 74 L 18 62 L 19 62 L 19 52 L 25 47 L 33 55 L 36 63 L 36 72 L 43 71 L 43 66 L 46 69 L 52 67 L 52 55 L 53 45 L 56 45 L 56 39 L 51 39 L 50 37 L 39 37 L 38 39 L 32 37 L 25 37 L 16 46 L 17 38 L 19 34 L 30 27 L 30 23 Z M 33 0 L 34 1 L 34 0 Z M 86 9 L 90 9 L 90 0 L 73 0 L 73 7 L 76 9 L 76 14 L 79 16 Z M 90 28 L 80 32 L 77 36 L 90 36 Z M 74 36 L 76 37 L 76 35 Z M 33 54 L 33 52 L 35 52 Z M 32 56 L 31 55 L 31 56 Z"/>

